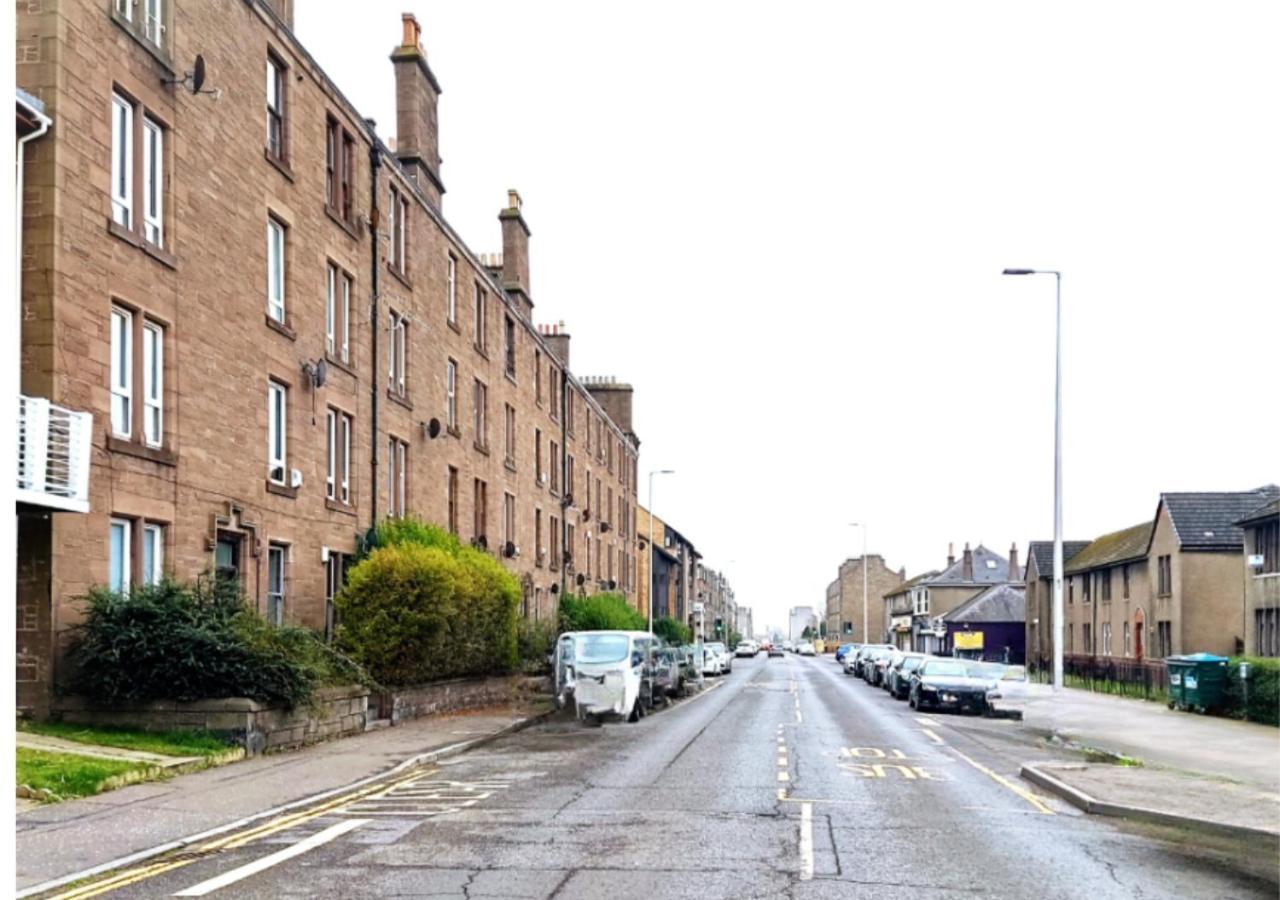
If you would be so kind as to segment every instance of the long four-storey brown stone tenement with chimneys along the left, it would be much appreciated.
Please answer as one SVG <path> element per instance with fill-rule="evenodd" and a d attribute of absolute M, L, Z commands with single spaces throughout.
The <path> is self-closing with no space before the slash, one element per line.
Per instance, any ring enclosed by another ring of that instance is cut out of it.
<path fill-rule="evenodd" d="M 472 252 L 442 211 L 416 19 L 384 142 L 292 8 L 18 10 L 18 83 L 54 122 L 26 160 L 22 388 L 92 415 L 87 513 L 19 508 L 23 705 L 90 586 L 216 568 L 273 621 L 330 629 L 385 516 L 500 557 L 529 617 L 634 591 L 631 388 L 576 378 L 567 329 L 536 325 L 520 195 L 502 252 Z"/>

